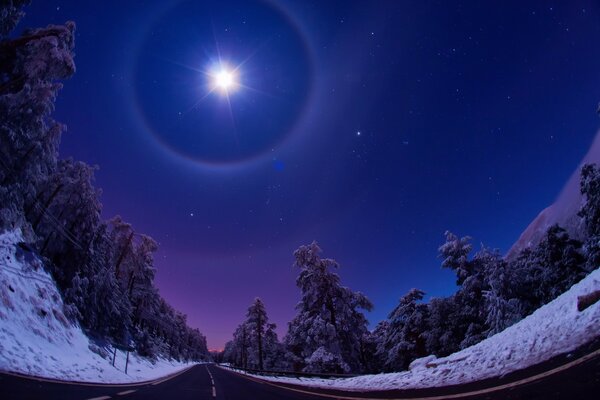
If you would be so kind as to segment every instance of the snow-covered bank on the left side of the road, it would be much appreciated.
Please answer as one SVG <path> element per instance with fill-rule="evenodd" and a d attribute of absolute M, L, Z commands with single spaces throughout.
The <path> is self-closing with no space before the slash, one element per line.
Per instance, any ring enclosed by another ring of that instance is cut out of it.
<path fill-rule="evenodd" d="M 175 373 L 191 364 L 155 363 L 99 347 L 68 321 L 51 276 L 18 246 L 18 232 L 0 233 L 0 371 L 80 382 L 130 383 Z"/>

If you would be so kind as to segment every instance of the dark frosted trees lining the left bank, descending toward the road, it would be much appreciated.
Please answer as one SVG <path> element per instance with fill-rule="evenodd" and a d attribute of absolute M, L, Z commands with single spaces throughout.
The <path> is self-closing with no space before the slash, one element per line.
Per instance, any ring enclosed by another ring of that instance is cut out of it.
<path fill-rule="evenodd" d="M 0 3 L 0 230 L 23 233 L 91 336 L 143 356 L 206 359 L 204 335 L 154 285 L 157 243 L 119 216 L 102 220 L 96 167 L 59 158 L 66 128 L 51 114 L 59 81 L 75 73 L 75 24 L 11 38 L 28 3 Z"/>

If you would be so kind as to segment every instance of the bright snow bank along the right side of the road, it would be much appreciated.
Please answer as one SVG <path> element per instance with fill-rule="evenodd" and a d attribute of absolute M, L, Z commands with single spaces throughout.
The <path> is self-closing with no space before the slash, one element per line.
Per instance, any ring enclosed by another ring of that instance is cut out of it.
<path fill-rule="evenodd" d="M 600 301 L 579 312 L 577 297 L 600 290 L 600 269 L 508 329 L 448 357 L 415 360 L 409 371 L 344 379 L 264 377 L 344 390 L 418 389 L 498 377 L 568 353 L 600 336 Z"/>

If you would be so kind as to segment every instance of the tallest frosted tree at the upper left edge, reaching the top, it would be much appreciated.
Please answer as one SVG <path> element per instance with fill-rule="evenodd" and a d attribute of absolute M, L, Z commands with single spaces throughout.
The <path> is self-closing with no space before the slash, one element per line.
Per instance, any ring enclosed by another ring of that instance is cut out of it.
<path fill-rule="evenodd" d="M 0 38 L 21 17 L 27 2 L 0 4 Z M 0 41 L 0 224 L 28 235 L 25 212 L 56 167 L 64 127 L 51 118 L 62 85 L 75 71 L 75 24 L 26 31 Z"/>

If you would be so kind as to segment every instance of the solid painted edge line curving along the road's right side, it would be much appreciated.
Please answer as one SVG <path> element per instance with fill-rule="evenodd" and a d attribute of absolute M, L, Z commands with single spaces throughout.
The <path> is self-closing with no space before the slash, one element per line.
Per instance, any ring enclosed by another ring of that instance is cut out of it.
<path fill-rule="evenodd" d="M 486 393 L 491 393 L 491 392 L 496 392 L 498 390 L 503 390 L 503 389 L 509 389 L 509 388 L 514 388 L 517 386 L 521 386 L 521 385 L 525 385 L 527 383 L 531 383 L 534 381 L 537 381 L 539 379 L 543 379 L 546 378 L 550 375 L 556 374 L 557 372 L 561 372 L 564 371 L 566 369 L 569 369 L 571 367 L 574 367 L 575 365 L 579 365 L 582 364 L 596 356 L 600 355 L 600 349 L 589 353 L 581 358 L 578 358 L 577 360 L 573 360 L 567 364 L 563 364 L 559 367 L 556 367 L 554 369 L 551 369 L 549 371 L 546 372 L 542 372 L 540 374 L 534 375 L 534 376 L 530 376 L 528 378 L 523 378 L 520 379 L 518 381 L 515 382 L 510 382 L 510 383 L 505 383 L 503 385 L 499 385 L 499 386 L 494 386 L 494 387 L 490 387 L 490 388 L 486 388 L 486 389 L 481 389 L 481 390 L 474 390 L 471 392 L 464 392 L 464 393 L 456 393 L 456 394 L 447 394 L 447 395 L 441 395 L 441 396 L 427 396 L 427 397 L 403 397 L 401 399 L 390 399 L 390 400 L 444 400 L 444 399 L 460 399 L 463 397 L 470 397 L 470 396 L 475 396 L 478 394 L 486 394 Z M 219 368 L 221 369 L 225 369 L 221 366 L 219 366 Z M 298 393 L 306 393 L 306 394 L 311 394 L 313 396 L 319 396 L 319 397 L 325 397 L 325 398 L 333 398 L 333 399 L 338 399 L 338 400 L 380 400 L 377 398 L 371 398 L 371 397 L 350 397 L 350 396 L 340 396 L 340 395 L 331 395 L 331 394 L 326 394 L 326 393 L 319 393 L 319 392 L 314 392 L 314 391 L 309 391 L 309 390 L 302 390 L 302 389 L 295 389 L 295 388 L 291 388 L 289 386 L 282 386 L 282 385 L 278 385 L 276 383 L 270 382 L 270 381 L 265 381 L 259 378 L 254 378 L 254 377 L 250 377 L 247 375 L 243 375 L 240 374 L 238 372 L 235 372 L 233 370 L 229 370 L 232 373 L 237 373 L 238 375 L 249 379 L 251 381 L 255 381 L 255 382 L 262 382 L 265 383 L 267 385 L 271 385 L 271 386 L 275 386 L 281 389 L 287 389 L 287 390 L 291 390 L 292 392 L 298 392 Z M 322 388 L 314 388 L 314 389 L 322 389 Z M 326 388 L 326 389 L 334 389 L 335 388 Z M 339 389 L 338 389 L 339 390 Z M 343 390 L 342 390 L 343 391 Z"/>

